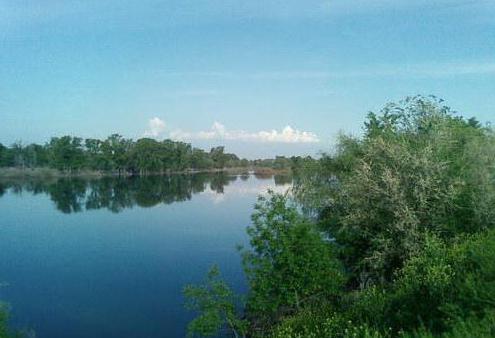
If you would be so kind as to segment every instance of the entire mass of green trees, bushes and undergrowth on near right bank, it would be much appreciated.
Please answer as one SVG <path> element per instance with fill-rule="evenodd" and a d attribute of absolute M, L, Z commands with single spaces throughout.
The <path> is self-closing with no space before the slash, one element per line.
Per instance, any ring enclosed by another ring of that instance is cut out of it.
<path fill-rule="evenodd" d="M 191 335 L 495 337 L 495 131 L 441 100 L 370 113 L 247 233 L 247 295 L 214 267 Z"/>

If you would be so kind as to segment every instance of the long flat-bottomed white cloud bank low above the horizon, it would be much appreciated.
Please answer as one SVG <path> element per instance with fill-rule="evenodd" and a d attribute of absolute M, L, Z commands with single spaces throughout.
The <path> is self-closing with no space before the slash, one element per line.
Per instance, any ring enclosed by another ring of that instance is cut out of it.
<path fill-rule="evenodd" d="M 187 132 L 174 130 L 170 138 L 175 140 L 228 140 L 246 142 L 276 142 L 276 143 L 317 143 L 318 136 L 310 131 L 301 131 L 291 126 L 282 130 L 261 130 L 248 132 L 245 130 L 228 130 L 219 122 L 213 123 L 209 130 L 199 132 Z"/>

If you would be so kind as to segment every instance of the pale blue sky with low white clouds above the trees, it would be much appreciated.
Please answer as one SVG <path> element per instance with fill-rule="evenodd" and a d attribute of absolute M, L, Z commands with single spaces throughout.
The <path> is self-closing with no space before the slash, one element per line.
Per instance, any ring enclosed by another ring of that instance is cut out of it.
<path fill-rule="evenodd" d="M 315 155 L 416 94 L 495 121 L 495 1 L 0 0 L 3 144 Z"/>

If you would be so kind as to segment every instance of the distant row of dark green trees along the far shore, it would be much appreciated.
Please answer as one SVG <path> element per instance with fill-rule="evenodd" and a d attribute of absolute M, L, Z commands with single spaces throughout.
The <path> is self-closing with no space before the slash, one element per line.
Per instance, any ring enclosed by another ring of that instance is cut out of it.
<path fill-rule="evenodd" d="M 209 152 L 172 140 L 137 141 L 113 134 L 105 140 L 54 137 L 50 142 L 10 147 L 0 144 L 0 167 L 47 167 L 73 173 L 80 170 L 118 174 L 149 174 L 224 168 L 268 167 L 291 169 L 311 158 L 277 156 L 275 159 L 247 160 L 226 153 L 224 147 Z"/>

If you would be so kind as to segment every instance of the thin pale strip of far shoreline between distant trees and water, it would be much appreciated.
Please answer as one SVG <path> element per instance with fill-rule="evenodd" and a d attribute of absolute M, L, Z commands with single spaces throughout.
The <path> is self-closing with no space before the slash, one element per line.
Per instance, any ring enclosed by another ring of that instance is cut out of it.
<path fill-rule="evenodd" d="M 159 176 L 159 175 L 188 175 L 201 173 L 226 173 L 229 175 L 290 175 L 290 169 L 274 169 L 269 167 L 223 168 L 223 169 L 187 169 L 182 171 L 153 172 L 140 175 L 139 173 L 118 173 L 113 171 L 78 170 L 72 172 L 52 168 L 0 168 L 0 178 L 63 178 L 83 177 L 98 178 L 108 176 Z"/>

